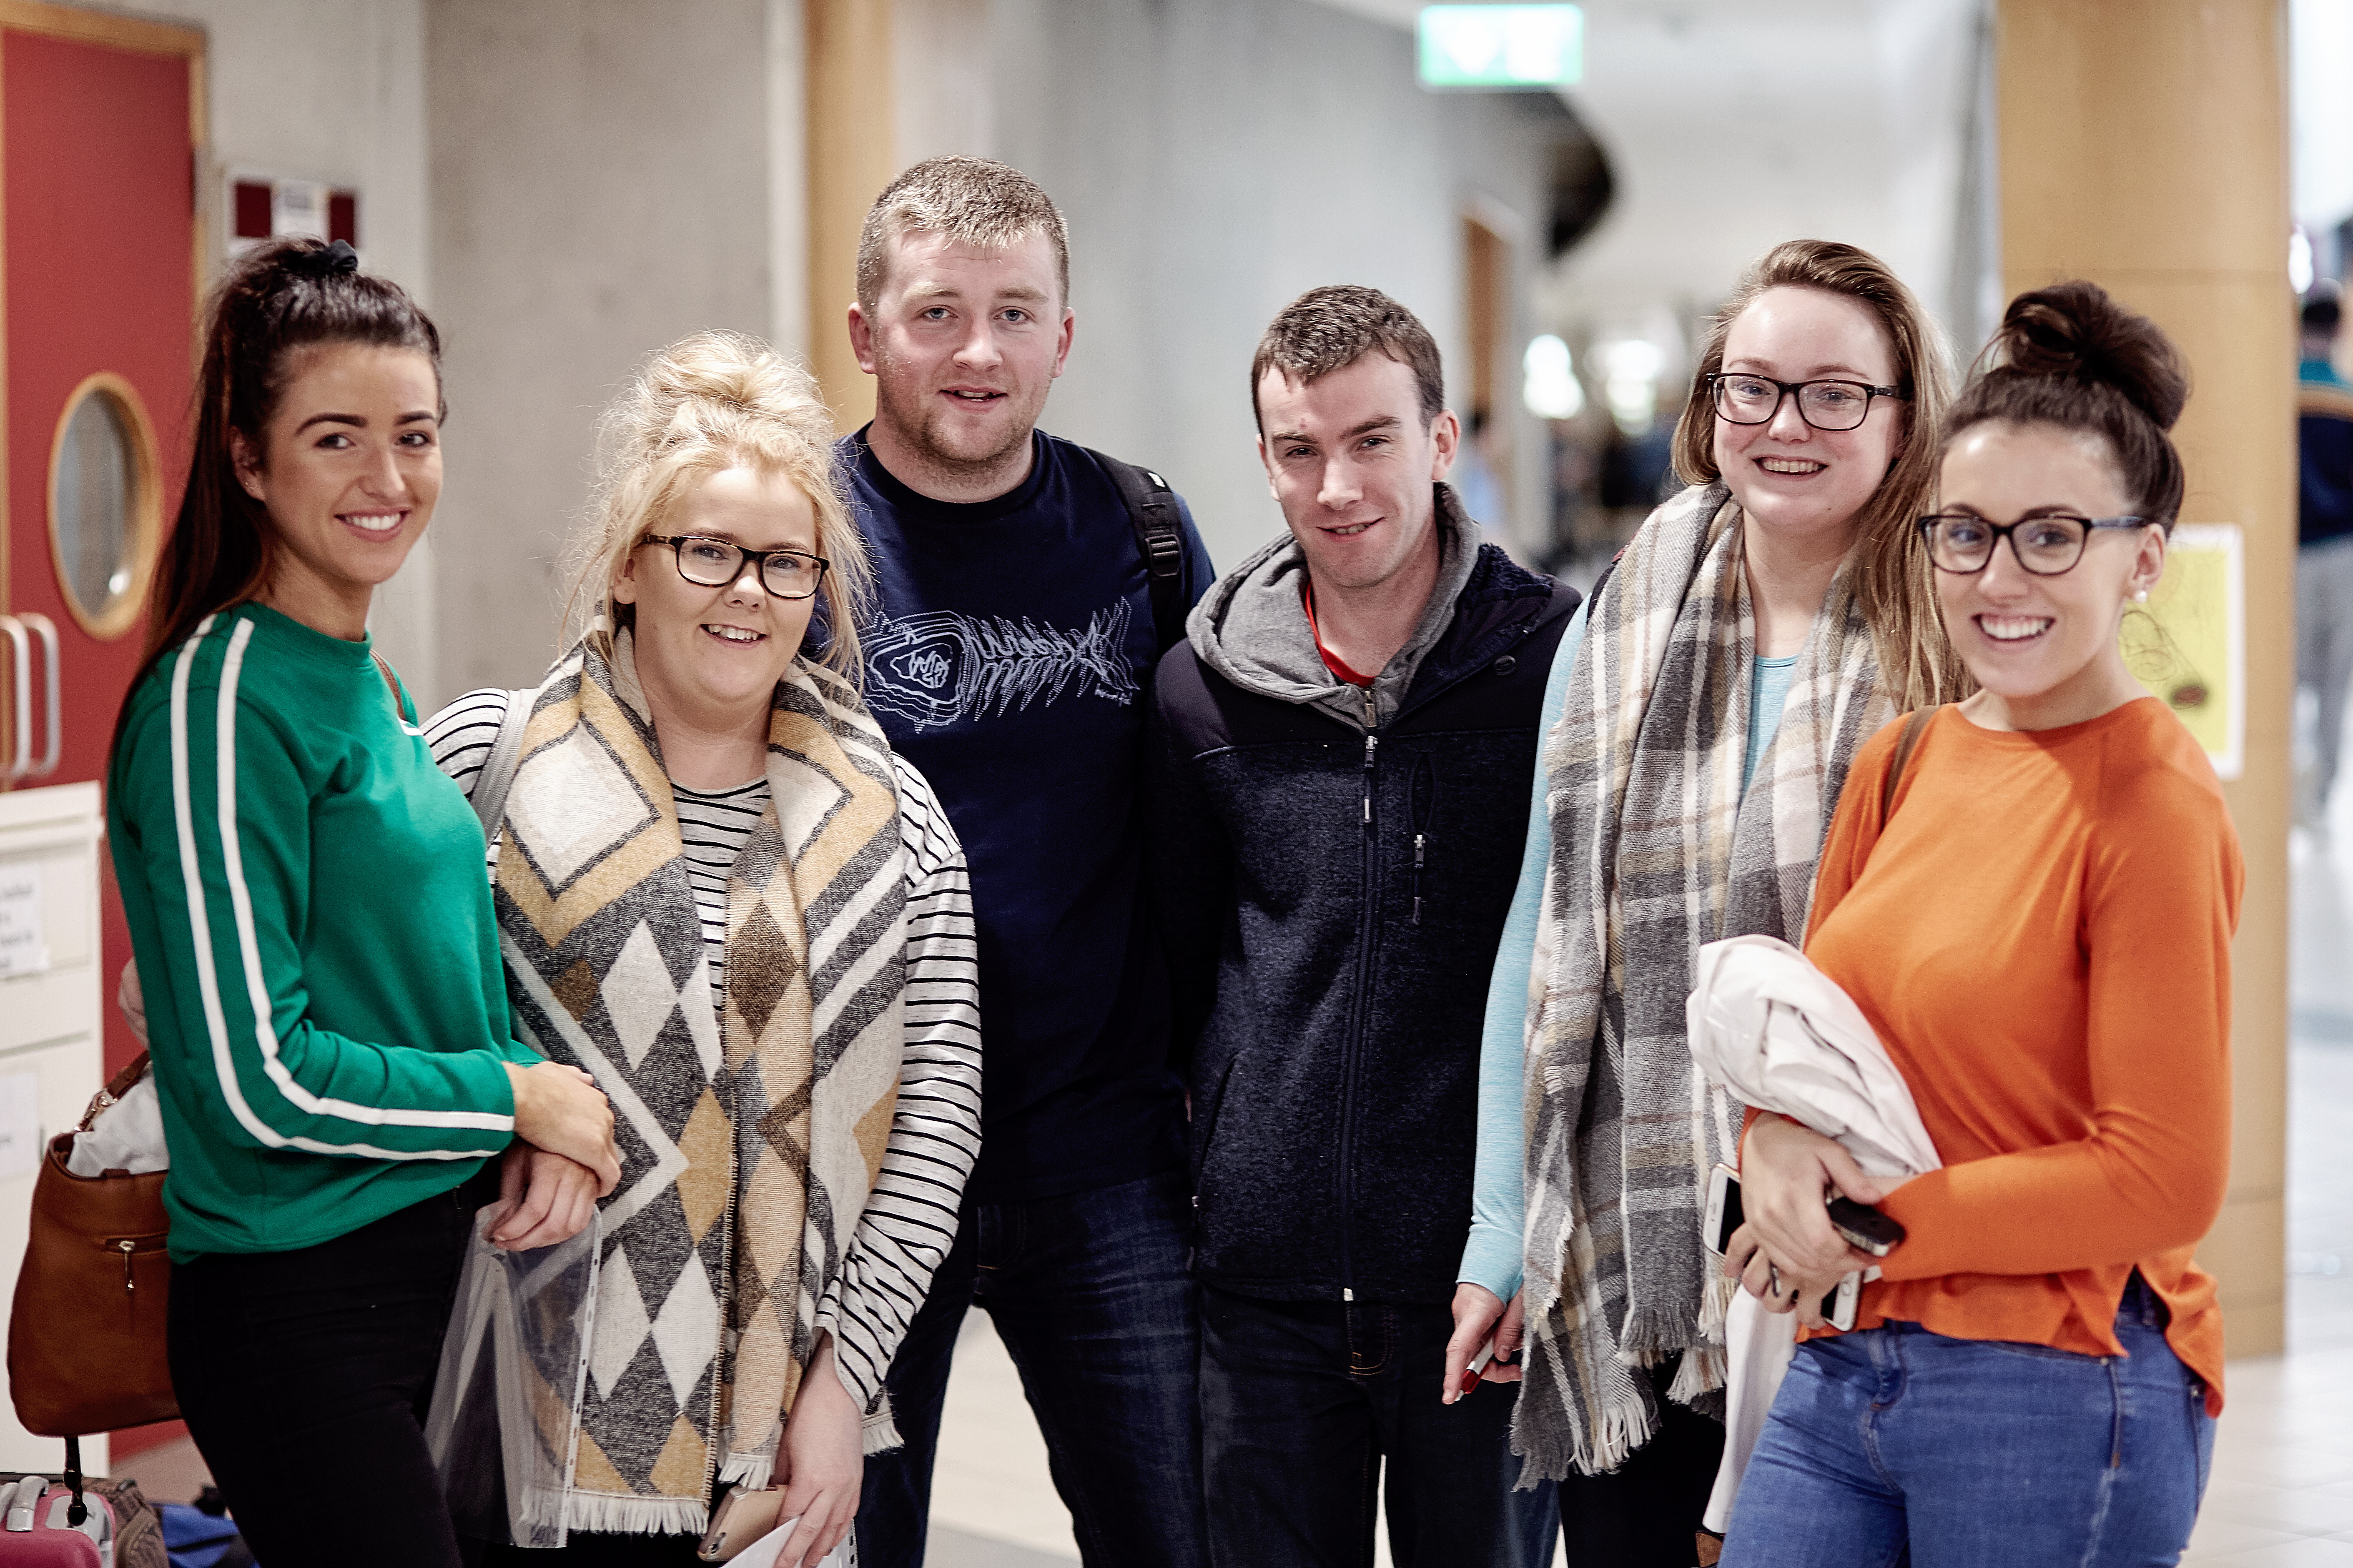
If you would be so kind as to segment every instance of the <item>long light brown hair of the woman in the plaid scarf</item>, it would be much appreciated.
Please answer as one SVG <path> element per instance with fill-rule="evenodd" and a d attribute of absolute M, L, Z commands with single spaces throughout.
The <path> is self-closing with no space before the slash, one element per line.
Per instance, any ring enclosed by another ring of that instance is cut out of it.
<path fill-rule="evenodd" d="M 1953 381 L 1946 371 L 1944 331 L 1920 308 L 1920 301 L 1885 261 L 1838 240 L 1784 240 L 1765 252 L 1741 277 L 1732 299 L 1715 313 L 1699 346 L 1699 369 L 1692 395 L 1675 423 L 1675 475 L 1685 484 L 1720 477 L 1715 465 L 1715 402 L 1708 376 L 1725 369 L 1725 339 L 1741 310 L 1765 289 L 1819 289 L 1871 310 L 1887 331 L 1897 355 L 1897 386 L 1911 393 L 1904 411 L 1904 437 L 1887 477 L 1854 520 L 1861 550 L 1854 592 L 1871 623 L 1880 656 L 1880 682 L 1899 710 L 1951 703 L 1977 689 L 1944 632 L 1937 604 L 1937 574 L 1927 559 L 1918 520 L 1937 489 L 1937 463 L 1944 456 L 1939 430 Z"/>

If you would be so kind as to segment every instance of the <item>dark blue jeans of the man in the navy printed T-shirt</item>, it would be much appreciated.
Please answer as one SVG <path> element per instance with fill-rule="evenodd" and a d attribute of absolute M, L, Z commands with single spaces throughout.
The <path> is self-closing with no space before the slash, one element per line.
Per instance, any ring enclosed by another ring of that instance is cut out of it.
<path fill-rule="evenodd" d="M 1184 1175 L 967 1204 L 889 1368 L 906 1448 L 866 1460 L 864 1568 L 918 1568 L 948 1361 L 979 1302 L 1005 1340 L 1087 1568 L 1198 1568 L 1200 1413 Z"/>

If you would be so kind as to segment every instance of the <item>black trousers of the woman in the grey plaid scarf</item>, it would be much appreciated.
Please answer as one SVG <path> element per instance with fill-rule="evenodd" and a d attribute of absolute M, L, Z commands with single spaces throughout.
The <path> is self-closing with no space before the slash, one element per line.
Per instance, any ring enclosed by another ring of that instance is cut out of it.
<path fill-rule="evenodd" d="M 1649 1368 L 1659 1429 L 1607 1476 L 1560 1483 L 1569 1568 L 1689 1568 L 1725 1458 L 1725 1422 L 1666 1396 L 1680 1356 Z"/>

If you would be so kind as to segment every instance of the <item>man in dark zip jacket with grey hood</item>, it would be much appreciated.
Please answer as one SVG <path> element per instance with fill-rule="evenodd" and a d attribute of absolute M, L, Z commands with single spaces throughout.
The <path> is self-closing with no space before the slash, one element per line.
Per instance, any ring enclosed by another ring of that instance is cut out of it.
<path fill-rule="evenodd" d="M 1553 1556 L 1511 1389 L 1447 1385 L 1480 1013 L 1577 590 L 1445 484 L 1438 343 L 1374 289 L 1249 367 L 1289 531 L 1193 611 L 1153 708 L 1153 912 L 1191 1060 L 1209 1556 Z M 1374 1486 L 1386 1465 L 1386 1483 Z"/>

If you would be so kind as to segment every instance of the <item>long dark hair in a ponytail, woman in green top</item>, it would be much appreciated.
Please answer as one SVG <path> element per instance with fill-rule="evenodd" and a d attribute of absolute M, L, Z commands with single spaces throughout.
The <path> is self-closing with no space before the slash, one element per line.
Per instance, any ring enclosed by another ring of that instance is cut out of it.
<path fill-rule="evenodd" d="M 125 710 L 148 670 L 205 616 L 252 599 L 271 581 L 278 536 L 268 510 L 238 482 L 231 437 L 264 454 L 294 353 L 320 343 L 414 348 L 440 376 L 433 320 L 398 282 L 360 273 L 341 240 L 266 240 L 228 266 L 205 306 L 188 487 L 148 583 L 146 651 Z"/>

